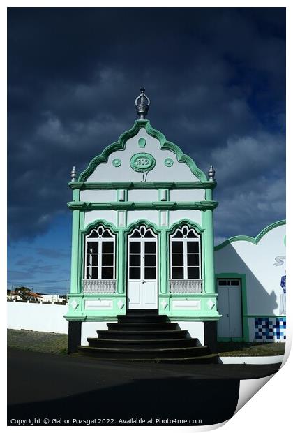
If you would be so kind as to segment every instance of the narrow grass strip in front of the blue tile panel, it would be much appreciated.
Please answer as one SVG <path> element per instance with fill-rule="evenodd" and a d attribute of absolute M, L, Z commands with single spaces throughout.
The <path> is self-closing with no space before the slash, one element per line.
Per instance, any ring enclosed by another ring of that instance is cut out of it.
<path fill-rule="evenodd" d="M 218 342 L 220 356 L 275 356 L 284 352 L 285 343 Z"/>

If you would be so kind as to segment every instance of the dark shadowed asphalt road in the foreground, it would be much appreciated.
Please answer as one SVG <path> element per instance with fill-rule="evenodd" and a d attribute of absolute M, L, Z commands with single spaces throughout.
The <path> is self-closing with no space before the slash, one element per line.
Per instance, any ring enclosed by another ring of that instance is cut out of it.
<path fill-rule="evenodd" d="M 118 363 L 8 349 L 8 425 L 15 418 L 40 419 L 37 425 L 44 418 L 49 425 L 59 418 L 70 420 L 66 425 L 76 425 L 73 419 L 117 425 L 130 418 L 220 423 L 236 409 L 240 379 L 269 376 L 279 368 Z"/>

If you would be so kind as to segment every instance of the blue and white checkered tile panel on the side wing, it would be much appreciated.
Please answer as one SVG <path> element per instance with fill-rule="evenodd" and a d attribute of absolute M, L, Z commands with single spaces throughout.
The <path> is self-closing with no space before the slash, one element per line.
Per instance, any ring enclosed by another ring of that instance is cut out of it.
<path fill-rule="evenodd" d="M 257 342 L 284 342 L 286 339 L 285 317 L 255 317 Z"/>

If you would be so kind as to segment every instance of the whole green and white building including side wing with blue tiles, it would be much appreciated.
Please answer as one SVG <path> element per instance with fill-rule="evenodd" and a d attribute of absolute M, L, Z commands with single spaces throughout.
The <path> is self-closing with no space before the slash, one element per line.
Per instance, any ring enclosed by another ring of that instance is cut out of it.
<path fill-rule="evenodd" d="M 133 127 L 72 172 L 69 346 L 134 309 L 167 315 L 213 347 L 285 340 L 285 221 L 214 247 L 212 166 L 206 177 L 153 129 L 139 98 Z"/>

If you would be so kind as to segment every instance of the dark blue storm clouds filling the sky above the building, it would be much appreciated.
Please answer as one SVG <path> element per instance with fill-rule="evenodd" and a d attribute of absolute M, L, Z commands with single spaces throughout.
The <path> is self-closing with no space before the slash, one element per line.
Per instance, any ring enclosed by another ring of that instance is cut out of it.
<path fill-rule="evenodd" d="M 284 217 L 285 8 L 9 8 L 11 240 L 68 212 L 72 166 L 133 125 L 141 85 L 151 124 L 216 167 L 218 239 Z"/>

